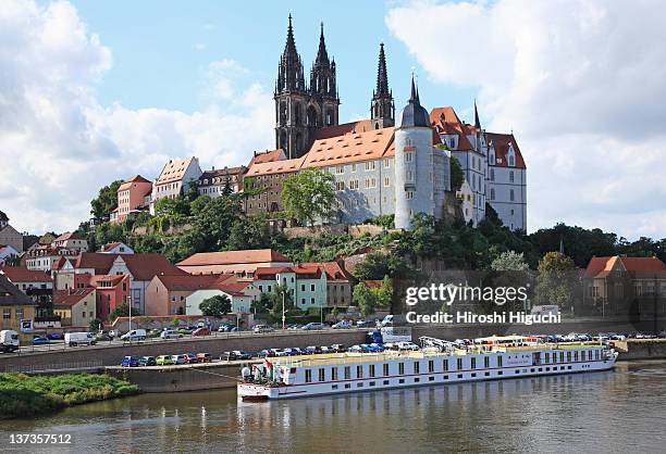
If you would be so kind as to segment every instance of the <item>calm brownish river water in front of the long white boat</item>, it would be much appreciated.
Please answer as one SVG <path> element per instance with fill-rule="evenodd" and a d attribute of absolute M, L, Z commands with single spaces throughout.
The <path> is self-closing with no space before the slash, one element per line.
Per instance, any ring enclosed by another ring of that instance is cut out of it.
<path fill-rule="evenodd" d="M 10 433 L 71 433 L 44 452 L 663 453 L 666 362 L 267 403 L 235 390 L 144 394 L 0 423 Z"/>

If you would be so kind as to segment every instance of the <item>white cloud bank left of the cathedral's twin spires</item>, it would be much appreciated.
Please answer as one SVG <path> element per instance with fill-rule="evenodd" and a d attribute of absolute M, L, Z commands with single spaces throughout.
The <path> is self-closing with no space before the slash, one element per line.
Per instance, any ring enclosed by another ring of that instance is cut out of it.
<path fill-rule="evenodd" d="M 70 3 L 3 1 L 0 210 L 16 228 L 76 228 L 101 186 L 137 173 L 153 178 L 169 157 L 234 165 L 272 144 L 271 96 L 244 86 L 236 62 L 209 66 L 205 96 L 217 94 L 192 114 L 101 105 L 95 89 L 111 65 L 111 50 Z"/>

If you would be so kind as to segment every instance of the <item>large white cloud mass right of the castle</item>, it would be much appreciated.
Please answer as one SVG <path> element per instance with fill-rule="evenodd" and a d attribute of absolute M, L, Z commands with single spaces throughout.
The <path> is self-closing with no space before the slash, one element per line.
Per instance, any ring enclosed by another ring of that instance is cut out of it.
<path fill-rule="evenodd" d="M 414 2 L 391 10 L 386 24 L 429 77 L 479 90 L 489 129 L 514 129 L 531 230 L 564 220 L 662 238 L 659 10 L 649 0 Z"/>

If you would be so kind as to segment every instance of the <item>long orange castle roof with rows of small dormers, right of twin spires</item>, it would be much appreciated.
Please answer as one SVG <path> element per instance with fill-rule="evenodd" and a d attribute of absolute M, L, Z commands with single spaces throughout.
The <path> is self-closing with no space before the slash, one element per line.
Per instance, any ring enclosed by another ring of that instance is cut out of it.
<path fill-rule="evenodd" d="M 304 155 L 303 167 L 322 167 L 349 162 L 379 160 L 386 155 L 393 143 L 394 128 L 349 133 L 329 139 L 316 140 Z"/>

